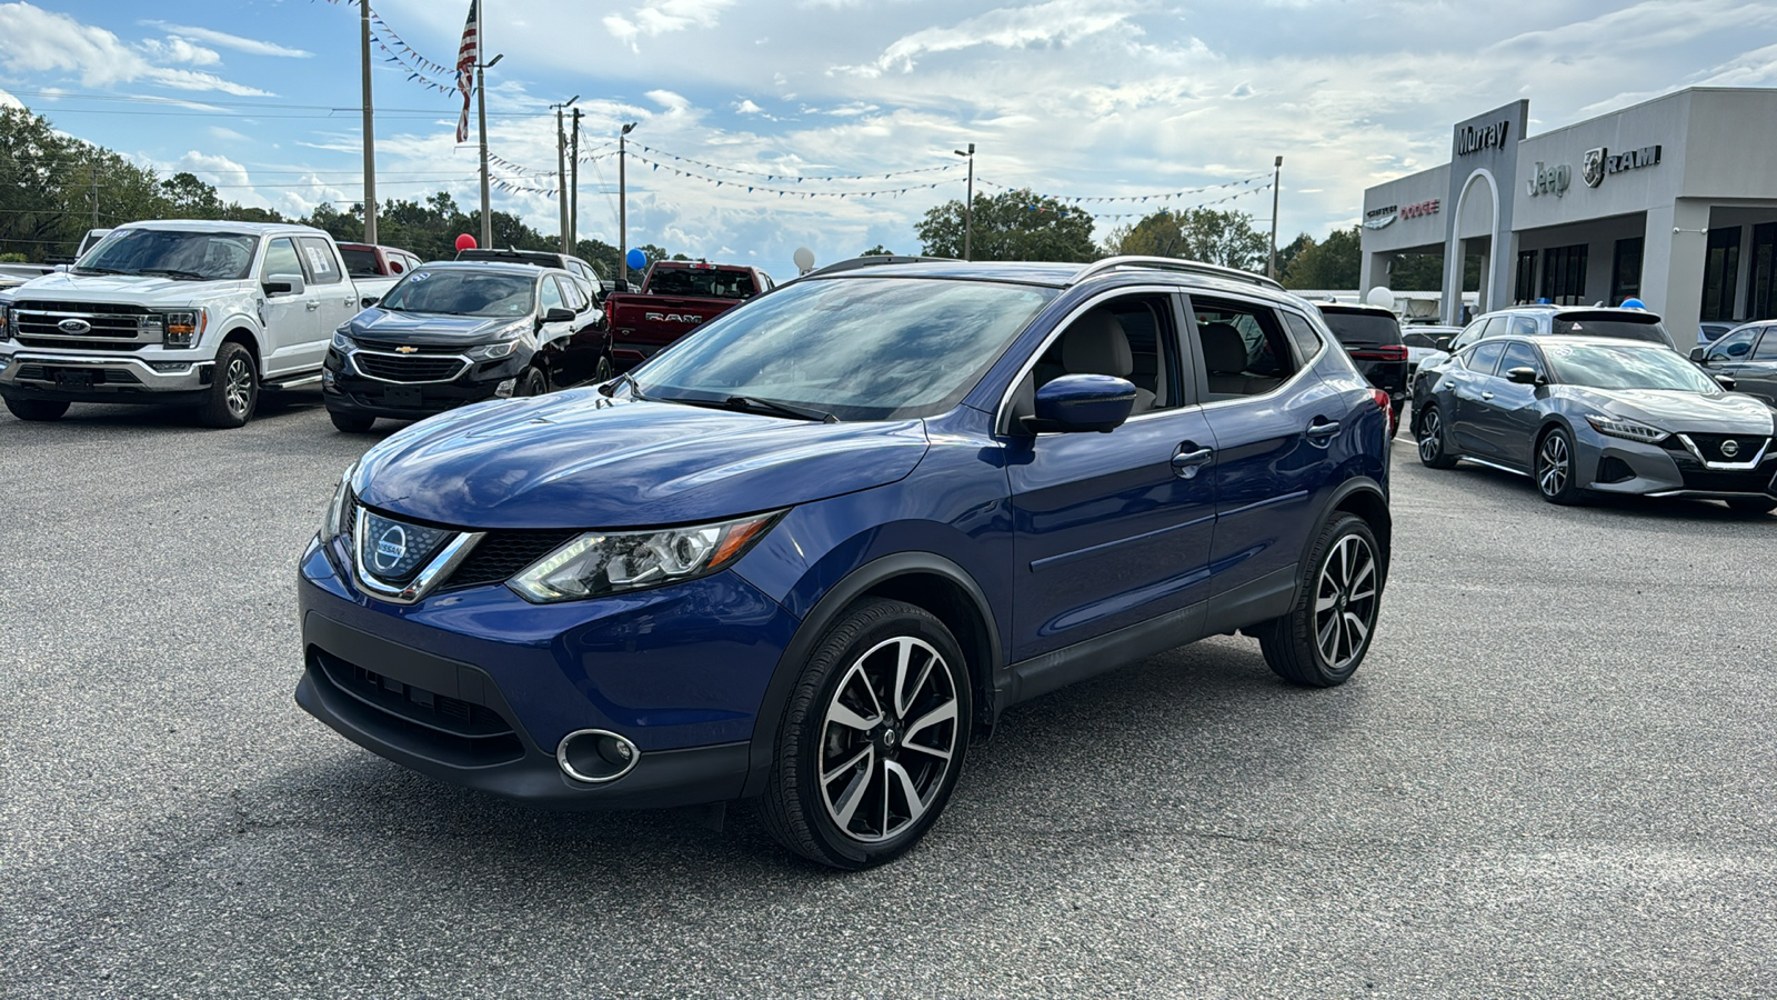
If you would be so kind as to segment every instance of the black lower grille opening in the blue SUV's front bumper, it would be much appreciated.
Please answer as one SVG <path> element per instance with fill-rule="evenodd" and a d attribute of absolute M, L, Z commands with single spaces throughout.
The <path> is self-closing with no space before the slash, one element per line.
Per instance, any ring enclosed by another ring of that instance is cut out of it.
<path fill-rule="evenodd" d="M 309 655 L 336 689 L 441 758 L 489 767 L 524 756 L 524 744 L 512 724 L 485 705 L 402 683 L 313 646 Z"/>

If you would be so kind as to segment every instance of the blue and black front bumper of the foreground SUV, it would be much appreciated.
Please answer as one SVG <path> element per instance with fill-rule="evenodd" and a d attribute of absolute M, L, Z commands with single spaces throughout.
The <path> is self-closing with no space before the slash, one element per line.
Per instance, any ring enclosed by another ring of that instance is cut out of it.
<path fill-rule="evenodd" d="M 595 601 L 531 605 L 505 585 L 416 605 L 370 598 L 339 539 L 299 573 L 297 703 L 352 742 L 451 785 L 560 810 L 741 795 L 753 721 L 796 619 L 732 573 Z M 556 763 L 608 730 L 640 760 L 610 783 Z"/>

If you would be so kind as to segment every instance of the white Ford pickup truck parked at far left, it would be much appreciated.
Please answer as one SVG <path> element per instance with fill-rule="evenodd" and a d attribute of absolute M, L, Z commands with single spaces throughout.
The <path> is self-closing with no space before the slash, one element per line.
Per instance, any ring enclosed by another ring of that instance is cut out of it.
<path fill-rule="evenodd" d="M 140 402 L 240 427 L 261 390 L 318 383 L 359 308 L 322 230 L 130 222 L 66 272 L 0 292 L 0 397 L 21 420 Z"/>

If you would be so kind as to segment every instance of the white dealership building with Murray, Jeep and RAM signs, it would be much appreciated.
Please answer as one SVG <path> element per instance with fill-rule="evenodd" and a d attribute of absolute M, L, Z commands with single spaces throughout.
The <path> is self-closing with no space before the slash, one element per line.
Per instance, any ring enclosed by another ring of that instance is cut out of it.
<path fill-rule="evenodd" d="M 1679 343 L 1777 317 L 1777 89 L 1692 87 L 1528 135 L 1530 101 L 1452 130 L 1450 164 L 1363 192 L 1361 290 L 1395 254 L 1443 254 L 1441 315 L 1635 297 Z"/>

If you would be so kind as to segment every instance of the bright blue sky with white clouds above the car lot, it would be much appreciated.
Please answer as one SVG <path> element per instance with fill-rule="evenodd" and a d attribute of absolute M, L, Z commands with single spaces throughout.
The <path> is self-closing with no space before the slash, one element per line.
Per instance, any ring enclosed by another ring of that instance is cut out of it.
<path fill-rule="evenodd" d="M 1205 203 L 1265 230 L 1281 155 L 1281 244 L 1351 226 L 1365 187 L 1448 162 L 1455 121 L 1519 98 L 1537 133 L 1777 85 L 1777 0 L 483 2 L 496 210 L 560 230 L 549 105 L 578 96 L 581 237 L 618 242 L 633 121 L 629 246 L 777 278 L 798 247 L 917 253 L 968 142 L 977 190 L 1082 199 L 1100 238 Z M 428 69 L 457 62 L 467 7 L 371 0 L 384 201 L 480 203 L 473 116 L 458 146 L 462 98 Z M 0 103 L 290 215 L 363 199 L 359 69 L 345 2 L 0 2 Z"/>

